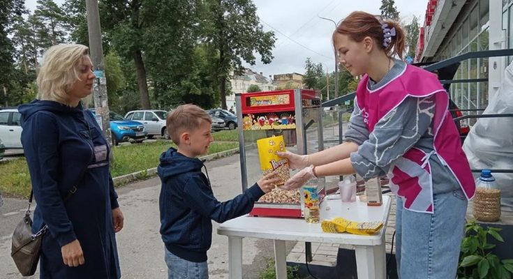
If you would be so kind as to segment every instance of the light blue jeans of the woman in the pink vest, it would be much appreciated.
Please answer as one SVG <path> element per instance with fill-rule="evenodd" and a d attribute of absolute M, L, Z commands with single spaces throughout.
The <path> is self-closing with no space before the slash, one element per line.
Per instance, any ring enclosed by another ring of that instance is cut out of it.
<path fill-rule="evenodd" d="M 402 279 L 456 278 L 467 199 L 462 190 L 433 195 L 434 213 L 403 209 L 397 197 L 396 260 Z"/>

